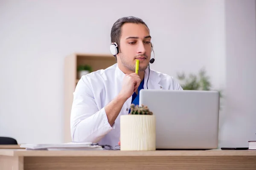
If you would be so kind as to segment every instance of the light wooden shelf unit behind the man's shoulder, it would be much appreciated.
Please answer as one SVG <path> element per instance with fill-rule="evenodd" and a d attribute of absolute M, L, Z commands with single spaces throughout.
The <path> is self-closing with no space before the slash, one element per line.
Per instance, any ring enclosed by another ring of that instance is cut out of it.
<path fill-rule="evenodd" d="M 77 82 L 77 67 L 90 65 L 92 71 L 108 68 L 116 63 L 115 57 L 108 54 L 71 54 L 64 60 L 64 142 L 71 142 L 70 113 L 73 103 L 73 92 Z"/>

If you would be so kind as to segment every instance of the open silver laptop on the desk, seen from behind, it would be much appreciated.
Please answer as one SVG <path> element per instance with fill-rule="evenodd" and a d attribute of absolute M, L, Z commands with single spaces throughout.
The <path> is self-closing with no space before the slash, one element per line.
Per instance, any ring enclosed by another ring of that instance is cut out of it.
<path fill-rule="evenodd" d="M 218 91 L 140 91 L 156 116 L 157 149 L 218 148 Z"/>

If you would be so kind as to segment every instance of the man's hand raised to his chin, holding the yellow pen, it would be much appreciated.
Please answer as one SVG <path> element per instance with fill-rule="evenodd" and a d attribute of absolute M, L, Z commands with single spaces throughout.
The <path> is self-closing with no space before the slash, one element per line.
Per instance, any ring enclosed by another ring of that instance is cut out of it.
<path fill-rule="evenodd" d="M 120 95 L 129 99 L 131 95 L 137 91 L 141 82 L 140 76 L 136 73 L 125 74 L 125 77 L 122 82 L 122 90 L 120 91 Z"/>

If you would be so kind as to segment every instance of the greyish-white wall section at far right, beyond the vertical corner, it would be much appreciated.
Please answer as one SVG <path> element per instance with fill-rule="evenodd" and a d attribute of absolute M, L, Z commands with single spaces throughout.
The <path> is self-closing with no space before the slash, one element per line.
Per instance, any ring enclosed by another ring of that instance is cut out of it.
<path fill-rule="evenodd" d="M 256 3 L 225 0 L 226 104 L 220 146 L 256 140 Z"/>

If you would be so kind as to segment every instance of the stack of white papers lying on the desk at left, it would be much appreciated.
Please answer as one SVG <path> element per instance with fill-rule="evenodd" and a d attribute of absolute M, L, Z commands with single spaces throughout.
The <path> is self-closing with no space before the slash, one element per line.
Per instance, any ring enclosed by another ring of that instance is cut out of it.
<path fill-rule="evenodd" d="M 21 144 L 26 150 L 103 150 L 102 146 L 91 142 L 70 142 L 64 144 Z"/>

